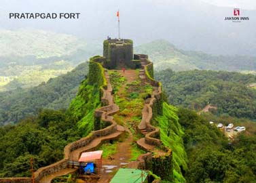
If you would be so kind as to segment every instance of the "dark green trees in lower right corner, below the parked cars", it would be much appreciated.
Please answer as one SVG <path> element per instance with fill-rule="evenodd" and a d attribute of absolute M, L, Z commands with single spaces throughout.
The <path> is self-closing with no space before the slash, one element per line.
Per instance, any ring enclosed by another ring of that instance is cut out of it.
<path fill-rule="evenodd" d="M 240 134 L 232 144 L 208 120 L 187 109 L 179 109 L 185 135 L 187 182 L 255 182 L 256 136 Z"/>

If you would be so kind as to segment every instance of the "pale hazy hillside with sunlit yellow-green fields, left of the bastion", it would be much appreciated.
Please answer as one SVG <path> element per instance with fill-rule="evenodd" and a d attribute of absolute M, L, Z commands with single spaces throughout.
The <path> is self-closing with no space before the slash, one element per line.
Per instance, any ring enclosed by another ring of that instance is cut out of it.
<path fill-rule="evenodd" d="M 0 91 L 39 85 L 98 54 L 95 45 L 49 31 L 1 30 L 0 39 Z"/>

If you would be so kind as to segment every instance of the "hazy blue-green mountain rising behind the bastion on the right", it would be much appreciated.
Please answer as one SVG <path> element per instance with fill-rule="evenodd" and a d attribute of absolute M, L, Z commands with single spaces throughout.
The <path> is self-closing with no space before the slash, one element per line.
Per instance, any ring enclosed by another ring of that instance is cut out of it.
<path fill-rule="evenodd" d="M 134 48 L 134 52 L 148 54 L 156 70 L 204 69 L 243 71 L 244 73 L 256 70 L 256 57 L 253 56 L 213 56 L 203 52 L 189 52 L 178 49 L 165 40 L 139 45 Z"/>

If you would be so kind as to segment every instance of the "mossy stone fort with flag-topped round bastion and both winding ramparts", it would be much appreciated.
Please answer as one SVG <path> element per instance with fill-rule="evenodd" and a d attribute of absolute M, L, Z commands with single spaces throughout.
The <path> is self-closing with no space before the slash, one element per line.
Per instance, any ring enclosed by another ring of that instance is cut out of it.
<path fill-rule="evenodd" d="M 94 131 L 64 149 L 64 158 L 47 167 L 35 171 L 33 178 L 1 178 L 0 182 L 50 182 L 52 178 L 67 174 L 67 170 L 77 171 L 74 161 L 82 152 L 98 149 L 105 141 L 116 140 L 124 133 L 124 127 L 117 125 L 113 115 L 119 110 L 113 99 L 113 89 L 109 82 L 108 70 L 138 69 L 139 78 L 153 87 L 141 111 L 141 123 L 138 125 L 143 138 L 136 141 L 139 148 L 146 151 L 136 160 L 135 168 L 150 170 L 153 175 L 148 182 L 161 182 L 172 178 L 172 150 L 162 144 L 160 129 L 152 124 L 157 115 L 163 114 L 162 84 L 153 79 L 153 62 L 145 54 L 133 54 L 133 43 L 130 39 L 107 39 L 103 42 L 103 56 L 90 58 L 88 83 L 97 84 L 100 88 L 101 107 L 94 112 Z M 105 123 L 105 125 L 102 125 Z M 73 172 L 70 171 L 70 172 Z M 44 180 L 44 181 L 43 181 Z"/>

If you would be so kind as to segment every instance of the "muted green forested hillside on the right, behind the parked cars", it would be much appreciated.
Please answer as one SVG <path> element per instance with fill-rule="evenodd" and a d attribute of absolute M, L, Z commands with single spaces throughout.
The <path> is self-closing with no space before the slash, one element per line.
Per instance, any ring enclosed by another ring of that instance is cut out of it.
<path fill-rule="evenodd" d="M 207 104 L 217 106 L 217 115 L 256 119 L 256 89 L 254 75 L 211 70 L 175 72 L 167 69 L 156 72 L 156 79 L 164 83 L 170 104 L 202 110 Z"/>

